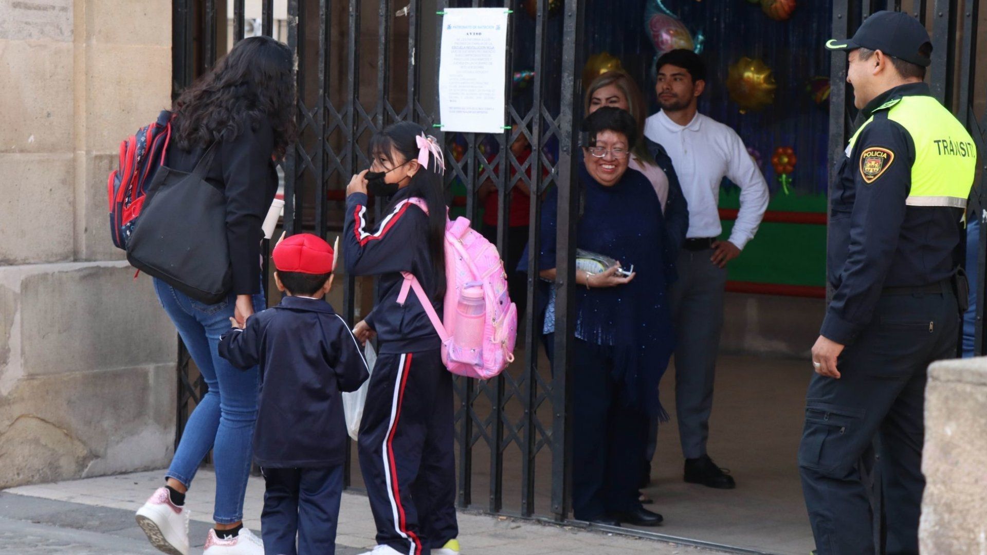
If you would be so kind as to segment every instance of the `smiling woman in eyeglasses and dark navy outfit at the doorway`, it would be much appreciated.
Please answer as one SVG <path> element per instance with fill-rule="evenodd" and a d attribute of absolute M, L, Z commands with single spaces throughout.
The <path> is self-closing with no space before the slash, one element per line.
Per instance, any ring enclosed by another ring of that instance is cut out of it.
<path fill-rule="evenodd" d="M 600 108 L 583 128 L 588 143 L 573 182 L 579 196 L 576 247 L 617 264 L 575 275 L 573 515 L 599 524 L 652 526 L 662 517 L 642 506 L 638 482 L 647 415 L 666 418 L 657 392 L 673 347 L 665 290 L 674 279 L 674 257 L 651 184 L 628 170 L 638 138 L 635 119 Z M 543 204 L 539 258 L 540 276 L 550 280 L 556 278 L 557 206 L 553 189 Z M 554 310 L 545 326 L 554 332 Z"/>

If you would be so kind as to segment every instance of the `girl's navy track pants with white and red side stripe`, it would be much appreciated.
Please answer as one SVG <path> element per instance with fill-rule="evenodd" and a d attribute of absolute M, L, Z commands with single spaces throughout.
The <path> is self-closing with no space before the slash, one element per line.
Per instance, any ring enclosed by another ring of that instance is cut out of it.
<path fill-rule="evenodd" d="M 437 349 L 377 357 L 358 448 L 378 544 L 428 555 L 458 535 L 452 404 Z"/>

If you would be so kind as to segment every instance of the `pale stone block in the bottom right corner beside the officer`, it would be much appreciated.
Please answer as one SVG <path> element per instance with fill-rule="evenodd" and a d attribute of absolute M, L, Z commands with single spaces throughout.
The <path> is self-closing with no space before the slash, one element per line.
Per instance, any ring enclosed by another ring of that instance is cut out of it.
<path fill-rule="evenodd" d="M 933 364 L 926 389 L 922 553 L 987 553 L 987 357 Z"/>

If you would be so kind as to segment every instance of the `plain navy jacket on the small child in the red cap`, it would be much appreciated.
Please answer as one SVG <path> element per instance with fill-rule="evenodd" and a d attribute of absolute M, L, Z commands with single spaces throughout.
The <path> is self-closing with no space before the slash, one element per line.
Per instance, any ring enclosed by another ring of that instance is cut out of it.
<path fill-rule="evenodd" d="M 254 458 L 271 468 L 335 466 L 347 438 L 342 391 L 369 375 L 349 326 L 324 300 L 285 296 L 220 339 L 219 355 L 239 368 L 261 364 Z"/>

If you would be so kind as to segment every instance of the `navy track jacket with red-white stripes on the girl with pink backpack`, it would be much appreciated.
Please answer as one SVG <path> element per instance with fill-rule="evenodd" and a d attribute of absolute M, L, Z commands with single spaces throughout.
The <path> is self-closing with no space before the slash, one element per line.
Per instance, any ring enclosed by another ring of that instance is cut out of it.
<path fill-rule="evenodd" d="M 408 188 L 398 191 L 375 228 L 367 226 L 367 196 L 346 197 L 342 228 L 342 260 L 350 276 L 380 276 L 377 302 L 364 320 L 377 332 L 380 353 L 417 353 L 438 349 L 441 341 L 418 296 L 410 292 L 404 305 L 398 294 L 402 272 L 411 272 L 431 297 L 435 313 L 442 314 L 442 299 L 434 300 L 437 287 L 428 252 L 428 215 L 408 201 Z M 438 209 L 445 209 L 439 206 Z M 373 232 L 368 231 L 373 229 Z"/>

